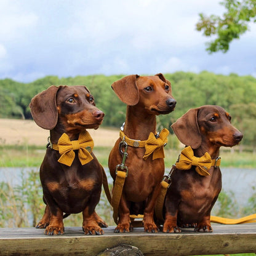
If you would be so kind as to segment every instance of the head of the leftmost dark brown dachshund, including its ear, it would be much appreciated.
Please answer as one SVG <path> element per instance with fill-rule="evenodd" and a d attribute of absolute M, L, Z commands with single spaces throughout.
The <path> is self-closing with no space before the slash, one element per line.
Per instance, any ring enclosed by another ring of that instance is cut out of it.
<path fill-rule="evenodd" d="M 97 129 L 104 117 L 85 86 L 50 86 L 32 98 L 30 109 L 38 126 L 52 130 L 62 124 L 65 132 Z"/>

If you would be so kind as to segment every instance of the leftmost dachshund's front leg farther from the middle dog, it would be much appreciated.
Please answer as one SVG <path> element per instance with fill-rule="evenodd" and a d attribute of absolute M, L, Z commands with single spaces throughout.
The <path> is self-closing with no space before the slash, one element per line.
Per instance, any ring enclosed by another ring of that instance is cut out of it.
<path fill-rule="evenodd" d="M 63 234 L 64 233 L 64 224 L 63 224 L 63 212 L 60 209 L 57 209 L 57 214 L 50 215 L 49 226 L 46 227 L 44 234 Z"/>

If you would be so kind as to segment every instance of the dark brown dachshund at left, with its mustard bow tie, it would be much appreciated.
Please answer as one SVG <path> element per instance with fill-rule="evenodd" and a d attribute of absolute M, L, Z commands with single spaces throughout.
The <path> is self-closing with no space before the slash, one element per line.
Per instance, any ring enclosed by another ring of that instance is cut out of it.
<path fill-rule="evenodd" d="M 30 108 L 36 124 L 50 130 L 40 167 L 46 210 L 36 228 L 46 228 L 45 234 L 63 234 L 63 213 L 82 212 L 84 233 L 103 234 L 100 226 L 106 223 L 95 212 L 103 170 L 86 129 L 98 129 L 104 113 L 84 86 L 50 86 L 31 100 Z"/>

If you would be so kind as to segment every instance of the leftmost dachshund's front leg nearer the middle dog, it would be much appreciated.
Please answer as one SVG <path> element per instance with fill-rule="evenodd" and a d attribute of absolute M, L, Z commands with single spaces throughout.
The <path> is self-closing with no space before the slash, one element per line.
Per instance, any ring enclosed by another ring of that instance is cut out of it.
<path fill-rule="evenodd" d="M 92 214 L 89 214 L 89 206 L 82 211 L 82 230 L 84 234 L 104 234 L 104 231 L 98 225 L 98 222 L 101 220 L 100 217 L 94 211 Z"/>

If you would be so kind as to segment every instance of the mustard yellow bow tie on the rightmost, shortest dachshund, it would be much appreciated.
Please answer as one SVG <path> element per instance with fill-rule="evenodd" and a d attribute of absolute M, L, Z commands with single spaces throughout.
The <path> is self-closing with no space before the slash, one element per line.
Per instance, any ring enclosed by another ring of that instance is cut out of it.
<path fill-rule="evenodd" d="M 220 158 L 212 160 L 210 154 L 206 152 L 201 158 L 194 156 L 191 146 L 187 146 L 180 153 L 175 166 L 180 170 L 189 170 L 191 166 L 196 166 L 196 172 L 202 176 L 210 175 L 208 170 L 211 166 L 220 166 Z"/>

